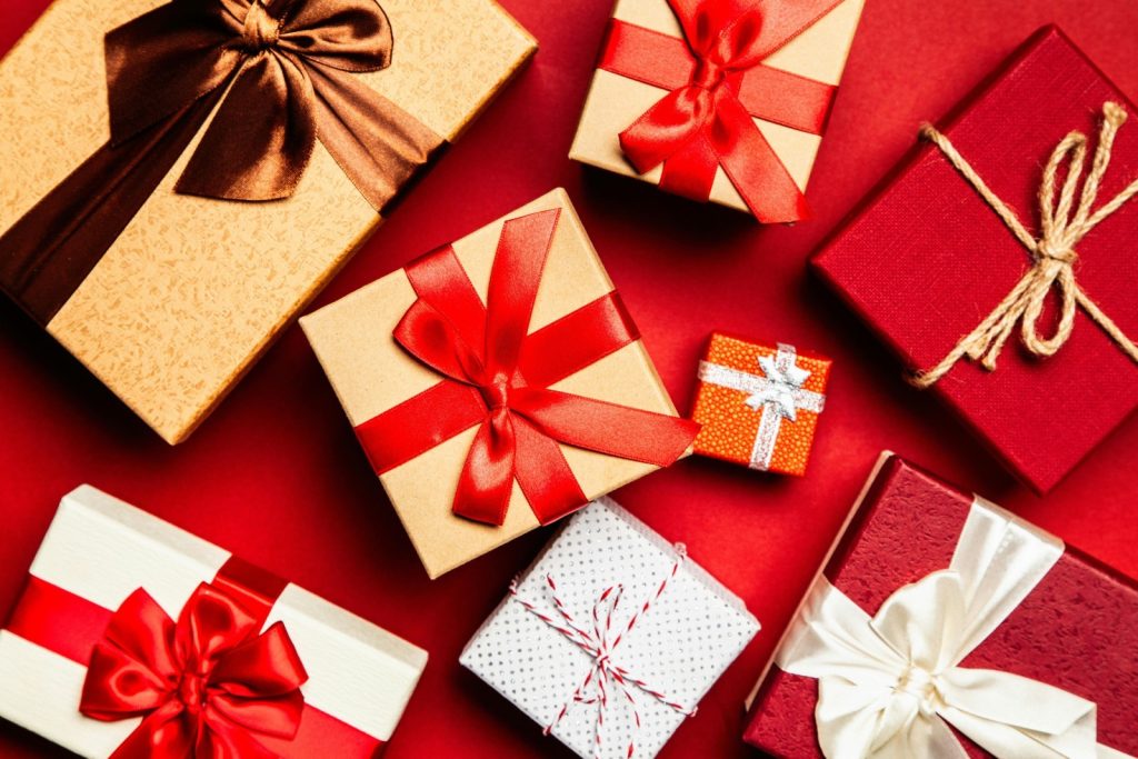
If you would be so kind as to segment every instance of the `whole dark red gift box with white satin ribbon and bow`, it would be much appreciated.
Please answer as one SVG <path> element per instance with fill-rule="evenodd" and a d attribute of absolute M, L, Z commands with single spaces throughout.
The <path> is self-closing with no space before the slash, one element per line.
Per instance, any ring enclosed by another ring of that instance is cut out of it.
<path fill-rule="evenodd" d="M 787 758 L 1136 754 L 1135 662 L 1138 584 L 884 455 L 745 737 Z"/>

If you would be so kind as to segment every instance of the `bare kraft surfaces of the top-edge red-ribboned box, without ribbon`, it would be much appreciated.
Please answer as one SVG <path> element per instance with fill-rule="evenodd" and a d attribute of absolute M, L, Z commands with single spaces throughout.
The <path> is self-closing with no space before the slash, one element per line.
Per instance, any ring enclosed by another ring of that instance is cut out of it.
<path fill-rule="evenodd" d="M 843 0 L 799 36 L 766 58 L 762 65 L 836 86 L 846 68 L 846 59 L 864 6 L 865 0 Z M 667 0 L 617 0 L 612 18 L 668 36 L 683 36 L 679 22 Z M 638 174 L 620 149 L 619 134 L 667 92 L 597 68 L 569 157 L 659 184 L 662 168 L 658 166 L 645 174 Z M 806 192 L 823 137 L 761 118 L 753 121 L 794 183 Z M 747 211 L 747 204 L 721 167 L 716 172 L 710 200 Z"/>

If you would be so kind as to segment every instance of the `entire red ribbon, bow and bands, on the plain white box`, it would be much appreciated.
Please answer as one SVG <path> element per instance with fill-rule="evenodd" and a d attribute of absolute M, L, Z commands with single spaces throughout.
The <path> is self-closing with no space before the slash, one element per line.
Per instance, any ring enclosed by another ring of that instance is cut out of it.
<path fill-rule="evenodd" d="M 175 621 L 141 587 L 112 611 L 30 576 L 6 629 L 88 668 L 85 717 L 141 718 L 113 759 L 296 756 L 298 731 L 307 749 L 374 744 L 305 702 L 283 622 L 263 629 L 286 585 L 230 558 Z"/>

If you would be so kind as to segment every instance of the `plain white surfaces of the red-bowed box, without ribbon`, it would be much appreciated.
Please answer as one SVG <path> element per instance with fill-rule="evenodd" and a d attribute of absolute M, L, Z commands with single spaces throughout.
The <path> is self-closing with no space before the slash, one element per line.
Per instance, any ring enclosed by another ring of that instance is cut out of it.
<path fill-rule="evenodd" d="M 48 584 L 114 611 L 142 587 L 170 614 L 231 554 L 134 506 L 83 486 L 59 505 L 30 570 Z M 25 594 L 26 596 L 26 594 Z M 17 602 L 14 617 L 20 611 Z M 427 663 L 427 652 L 288 584 L 264 628 L 282 621 L 308 674 L 308 708 L 348 731 L 335 756 L 370 756 L 395 729 Z M 9 627 L 13 622 L 9 622 Z M 0 630 L 0 717 L 85 757 L 105 758 L 141 718 L 98 721 L 80 713 L 86 667 L 11 629 Z M 304 728 L 302 727 L 302 731 Z M 348 748 L 351 746 L 351 749 Z"/>

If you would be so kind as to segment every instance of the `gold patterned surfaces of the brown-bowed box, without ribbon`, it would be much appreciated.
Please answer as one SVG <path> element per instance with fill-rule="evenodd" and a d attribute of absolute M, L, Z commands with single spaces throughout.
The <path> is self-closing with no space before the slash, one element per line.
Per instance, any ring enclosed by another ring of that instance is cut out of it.
<path fill-rule="evenodd" d="M 56 0 L 0 61 L 0 233 L 107 142 L 104 36 L 160 5 Z M 355 76 L 447 142 L 536 49 L 492 0 L 381 7 L 391 65 Z M 200 138 L 46 325 L 172 444 L 382 221 L 319 141 L 288 199 L 178 195 Z"/>

